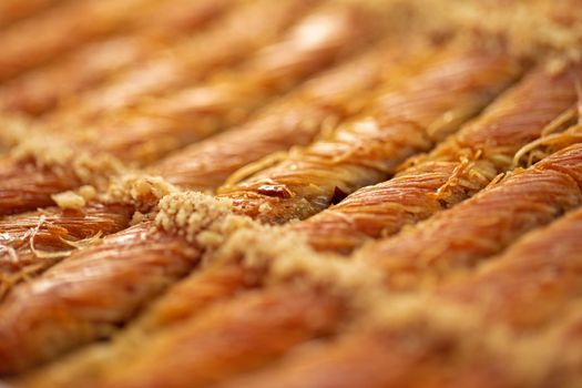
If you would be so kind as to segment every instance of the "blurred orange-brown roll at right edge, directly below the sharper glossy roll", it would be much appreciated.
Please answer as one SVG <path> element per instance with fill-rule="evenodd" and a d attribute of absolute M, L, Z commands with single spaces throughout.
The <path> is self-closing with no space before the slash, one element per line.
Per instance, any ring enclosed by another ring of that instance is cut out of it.
<path fill-rule="evenodd" d="M 539 329 L 566 313 L 582 293 L 582 211 L 527 234 L 477 274 L 441 287 L 437 295 L 479 306 L 488 320 L 520 333 Z M 559 244 L 557 244 L 559 242 Z"/>

